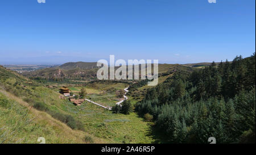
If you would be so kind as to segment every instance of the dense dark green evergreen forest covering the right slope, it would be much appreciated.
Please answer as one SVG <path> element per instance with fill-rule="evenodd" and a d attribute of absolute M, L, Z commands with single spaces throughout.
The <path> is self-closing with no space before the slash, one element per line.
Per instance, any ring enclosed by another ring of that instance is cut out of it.
<path fill-rule="evenodd" d="M 136 104 L 168 143 L 255 143 L 255 53 L 174 73 Z"/>

